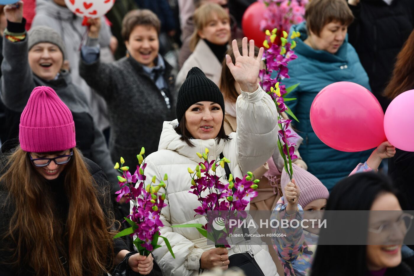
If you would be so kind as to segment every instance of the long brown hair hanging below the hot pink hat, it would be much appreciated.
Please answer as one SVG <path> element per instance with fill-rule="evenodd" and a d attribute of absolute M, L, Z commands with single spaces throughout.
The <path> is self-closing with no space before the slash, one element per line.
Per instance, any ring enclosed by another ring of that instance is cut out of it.
<path fill-rule="evenodd" d="M 29 153 L 18 146 L 7 162 L 0 183 L 8 191 L 6 202 L 12 202 L 14 213 L 3 238 L 8 248 L 7 263 L 28 265 L 36 275 L 67 275 L 60 256 L 68 261 L 70 275 L 99 275 L 108 272 L 113 255 L 111 219 L 99 204 L 100 191 L 92 178 L 82 153 L 73 148 L 65 166 L 64 191 L 69 202 L 66 232 L 55 215 L 55 203 L 48 183 L 36 172 Z M 67 235 L 68 244 L 63 243 Z M 62 250 L 61 252 L 59 249 Z M 68 252 L 68 256 L 66 256 Z"/>

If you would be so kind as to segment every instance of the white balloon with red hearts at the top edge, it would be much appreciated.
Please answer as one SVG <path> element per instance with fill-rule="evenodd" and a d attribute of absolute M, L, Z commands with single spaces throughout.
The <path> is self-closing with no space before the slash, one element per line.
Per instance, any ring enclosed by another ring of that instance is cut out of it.
<path fill-rule="evenodd" d="M 99 18 L 111 10 L 115 0 L 65 0 L 66 6 L 82 18 Z"/>

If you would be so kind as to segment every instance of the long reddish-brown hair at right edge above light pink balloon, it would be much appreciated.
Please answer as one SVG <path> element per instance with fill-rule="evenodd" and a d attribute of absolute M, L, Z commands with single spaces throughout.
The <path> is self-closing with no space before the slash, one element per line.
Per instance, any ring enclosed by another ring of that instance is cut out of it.
<path fill-rule="evenodd" d="M 394 71 L 384 96 L 394 99 L 402 92 L 414 89 L 414 30 L 411 32 L 395 62 Z"/>

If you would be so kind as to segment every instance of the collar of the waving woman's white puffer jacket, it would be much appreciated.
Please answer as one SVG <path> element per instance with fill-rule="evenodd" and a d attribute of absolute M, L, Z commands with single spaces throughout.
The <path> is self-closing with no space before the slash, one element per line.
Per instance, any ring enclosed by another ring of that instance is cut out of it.
<path fill-rule="evenodd" d="M 225 144 L 223 139 L 220 143 L 217 143 L 217 139 L 192 139 L 191 142 L 193 142 L 195 147 L 190 147 L 180 139 L 181 136 L 174 130 L 176 126 L 178 126 L 177 119 L 171 122 L 164 122 L 158 150 L 173 150 L 197 163 L 200 162 L 197 152 L 204 153 L 205 148 L 209 149 L 209 156 L 214 158 L 219 157 L 220 153 L 223 152 Z"/>

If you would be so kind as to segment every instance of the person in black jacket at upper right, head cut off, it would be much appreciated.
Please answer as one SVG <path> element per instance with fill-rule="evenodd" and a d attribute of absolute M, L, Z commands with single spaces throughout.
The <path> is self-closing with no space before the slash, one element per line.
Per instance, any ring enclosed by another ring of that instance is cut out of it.
<path fill-rule="evenodd" d="M 390 65 L 414 28 L 414 1 L 348 0 L 348 5 L 355 17 L 348 27 L 349 43 L 355 47 L 372 93 L 385 112 L 390 99 L 382 93 L 390 80 Z"/>

